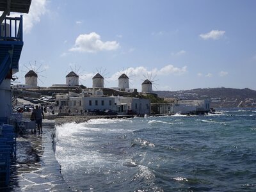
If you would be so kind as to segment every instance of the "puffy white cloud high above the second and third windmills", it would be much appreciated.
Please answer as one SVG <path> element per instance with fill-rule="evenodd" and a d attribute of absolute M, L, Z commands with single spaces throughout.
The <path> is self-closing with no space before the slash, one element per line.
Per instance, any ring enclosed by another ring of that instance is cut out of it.
<path fill-rule="evenodd" d="M 98 52 L 98 51 L 112 51 L 118 49 L 119 43 L 116 41 L 102 42 L 100 35 L 95 32 L 90 34 L 82 34 L 76 38 L 74 47 L 69 51 L 75 52 Z"/>

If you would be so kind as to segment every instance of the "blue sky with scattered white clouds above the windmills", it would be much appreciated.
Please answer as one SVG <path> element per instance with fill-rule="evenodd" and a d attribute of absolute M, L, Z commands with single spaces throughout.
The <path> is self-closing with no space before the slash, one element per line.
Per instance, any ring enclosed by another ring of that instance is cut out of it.
<path fill-rule="evenodd" d="M 74 70 L 87 87 L 100 72 L 108 88 L 125 73 L 138 91 L 145 79 L 153 90 L 256 90 L 253 0 L 32 0 L 22 15 L 21 84 L 35 68 L 39 86 Z"/>

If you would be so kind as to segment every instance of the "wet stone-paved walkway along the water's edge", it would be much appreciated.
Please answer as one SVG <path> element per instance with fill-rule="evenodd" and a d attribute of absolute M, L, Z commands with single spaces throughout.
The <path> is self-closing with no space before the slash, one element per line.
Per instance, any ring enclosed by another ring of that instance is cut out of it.
<path fill-rule="evenodd" d="M 54 121 L 44 120 L 43 132 L 17 138 L 10 186 L 0 191 L 72 191 L 61 175 L 52 150 Z"/>

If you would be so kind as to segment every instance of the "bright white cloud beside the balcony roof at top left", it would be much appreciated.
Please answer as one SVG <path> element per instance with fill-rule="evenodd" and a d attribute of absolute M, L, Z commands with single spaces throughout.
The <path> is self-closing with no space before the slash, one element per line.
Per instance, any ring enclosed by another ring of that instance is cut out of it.
<path fill-rule="evenodd" d="M 33 0 L 29 8 L 28 14 L 23 14 L 23 31 L 24 33 L 30 33 L 33 26 L 40 22 L 40 17 L 45 14 L 46 0 Z M 11 17 L 20 17 L 19 13 L 12 13 Z"/>

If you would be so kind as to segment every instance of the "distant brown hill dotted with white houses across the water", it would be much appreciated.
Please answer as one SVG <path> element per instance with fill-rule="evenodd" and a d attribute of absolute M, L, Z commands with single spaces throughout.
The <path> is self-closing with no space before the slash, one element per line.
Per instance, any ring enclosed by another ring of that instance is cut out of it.
<path fill-rule="evenodd" d="M 256 108 L 256 91 L 249 88 L 198 88 L 193 90 L 154 91 L 158 97 L 175 99 L 209 99 L 212 108 Z"/>

